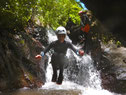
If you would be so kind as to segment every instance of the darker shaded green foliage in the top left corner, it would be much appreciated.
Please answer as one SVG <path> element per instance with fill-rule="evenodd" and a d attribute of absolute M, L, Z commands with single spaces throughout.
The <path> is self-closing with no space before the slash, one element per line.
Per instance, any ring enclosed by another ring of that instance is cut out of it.
<path fill-rule="evenodd" d="M 36 0 L 0 0 L 0 27 L 22 28 L 32 15 Z"/>

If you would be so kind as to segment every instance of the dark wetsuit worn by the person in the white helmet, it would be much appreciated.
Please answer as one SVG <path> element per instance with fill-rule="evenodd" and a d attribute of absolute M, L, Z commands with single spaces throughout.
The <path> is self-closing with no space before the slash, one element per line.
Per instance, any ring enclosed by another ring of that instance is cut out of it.
<path fill-rule="evenodd" d="M 76 50 L 74 46 L 68 41 L 64 41 L 63 43 L 60 43 L 58 40 L 56 40 L 47 46 L 47 48 L 44 50 L 44 53 L 48 52 L 51 48 L 54 50 L 54 53 L 51 58 L 51 63 L 53 67 L 52 81 L 60 84 L 63 81 L 64 66 L 68 62 L 66 58 L 67 49 L 70 48 L 75 53 L 77 53 L 78 50 Z M 60 73 L 57 79 L 58 69 L 60 70 Z"/>

